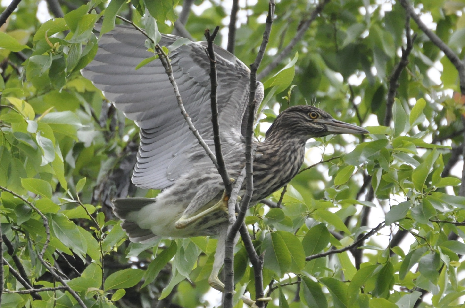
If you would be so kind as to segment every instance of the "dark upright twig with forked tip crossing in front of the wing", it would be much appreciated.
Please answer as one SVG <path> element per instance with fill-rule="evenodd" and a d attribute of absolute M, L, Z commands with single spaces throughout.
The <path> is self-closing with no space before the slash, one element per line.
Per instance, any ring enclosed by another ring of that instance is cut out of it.
<path fill-rule="evenodd" d="M 218 90 L 218 79 L 216 71 L 216 57 L 215 51 L 213 50 L 213 41 L 215 40 L 216 35 L 218 34 L 219 26 L 215 28 L 213 33 L 210 35 L 210 30 L 205 30 L 205 38 L 207 42 L 207 55 L 210 59 L 210 107 L 212 109 L 212 127 L 213 127 L 213 142 L 215 144 L 215 156 L 218 163 L 218 173 L 221 175 L 223 184 L 225 185 L 226 194 L 229 196 L 233 186 L 231 185 L 231 180 L 229 178 L 228 170 L 226 168 L 226 162 L 223 157 L 223 151 L 221 150 L 221 136 L 219 134 L 219 114 L 218 114 L 218 100 L 217 100 L 217 90 Z"/>

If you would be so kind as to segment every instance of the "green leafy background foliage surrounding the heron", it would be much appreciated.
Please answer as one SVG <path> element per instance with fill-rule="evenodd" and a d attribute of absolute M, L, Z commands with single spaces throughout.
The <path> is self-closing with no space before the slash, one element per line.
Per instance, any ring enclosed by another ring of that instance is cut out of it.
<path fill-rule="evenodd" d="M 322 13 L 311 22 L 317 4 Z M 465 1 L 412 5 L 463 58 Z M 195 40 L 219 25 L 217 44 L 226 45 L 230 7 L 222 0 L 22 0 L 0 28 L 2 307 L 75 307 L 76 297 L 89 308 L 220 304 L 206 281 L 215 239 L 127 240 L 109 200 L 158 191 L 130 183 L 138 128 L 80 69 L 95 55 L 92 30 L 102 16 L 105 32 L 117 12 L 143 25 L 147 9 L 162 33 L 180 16 Z M 246 64 L 258 51 L 267 9 L 267 1 L 239 1 L 235 54 Z M 54 19 L 44 20 L 47 12 Z M 266 98 L 257 137 L 279 110 L 306 102 L 371 134 L 311 140 L 304 167 L 332 160 L 299 173 L 281 200 L 281 192 L 270 196 L 271 209 L 250 210 L 246 224 L 264 253 L 273 297 L 268 307 L 465 307 L 465 188 L 458 178 L 465 100 L 457 70 L 413 21 L 412 50 L 401 49 L 405 20 L 393 0 L 276 3 L 262 70 L 303 35 L 259 75 Z M 408 64 L 396 76 L 403 52 Z M 236 249 L 236 290 L 254 298 L 246 251 L 241 242 Z M 54 289 L 25 291 L 31 288 Z"/>

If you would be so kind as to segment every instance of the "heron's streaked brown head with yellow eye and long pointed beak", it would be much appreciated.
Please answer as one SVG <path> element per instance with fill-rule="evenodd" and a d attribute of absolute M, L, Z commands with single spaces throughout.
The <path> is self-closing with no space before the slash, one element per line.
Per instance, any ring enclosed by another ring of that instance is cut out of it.
<path fill-rule="evenodd" d="M 365 128 L 341 122 L 314 106 L 292 106 L 281 112 L 266 132 L 266 139 L 293 136 L 302 140 L 331 134 L 368 134 Z"/>

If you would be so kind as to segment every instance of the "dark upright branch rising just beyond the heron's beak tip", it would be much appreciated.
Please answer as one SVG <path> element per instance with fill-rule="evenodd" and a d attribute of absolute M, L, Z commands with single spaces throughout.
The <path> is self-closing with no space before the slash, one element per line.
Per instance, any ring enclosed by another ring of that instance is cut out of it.
<path fill-rule="evenodd" d="M 394 105 L 394 98 L 396 97 L 397 88 L 399 88 L 399 78 L 402 71 L 408 64 L 408 57 L 413 49 L 413 42 L 415 41 L 417 34 L 410 35 L 410 15 L 405 17 L 405 38 L 407 39 L 407 46 L 405 49 L 402 47 L 402 56 L 399 63 L 396 65 L 394 71 L 389 77 L 389 90 L 387 91 L 386 100 L 386 115 L 384 117 L 384 126 L 389 126 L 392 120 L 392 106 Z"/>

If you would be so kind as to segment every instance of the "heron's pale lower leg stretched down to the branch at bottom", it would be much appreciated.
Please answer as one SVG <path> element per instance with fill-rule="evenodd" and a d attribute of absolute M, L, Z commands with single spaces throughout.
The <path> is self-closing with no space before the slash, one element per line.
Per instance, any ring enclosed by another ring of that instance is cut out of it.
<path fill-rule="evenodd" d="M 216 251 L 215 251 L 215 259 L 213 261 L 213 269 L 212 269 L 212 274 L 210 274 L 210 277 L 208 277 L 208 283 L 213 289 L 216 289 L 220 292 L 225 292 L 225 284 L 221 282 L 218 278 L 219 271 L 221 270 L 221 267 L 225 263 L 225 244 L 226 244 L 226 236 L 228 232 L 228 224 L 224 224 L 222 228 L 220 229 L 219 233 L 219 238 L 218 238 L 218 244 L 216 246 Z M 236 235 L 234 238 L 234 246 L 237 244 L 237 241 L 239 240 L 239 233 Z M 235 294 L 236 291 L 233 290 L 233 293 Z M 256 301 L 253 301 L 252 299 L 248 298 L 245 295 L 242 295 L 242 301 L 249 307 L 252 308 L 259 308 L 255 302 L 269 302 L 272 300 L 271 297 L 265 297 L 265 298 L 259 298 Z"/>

